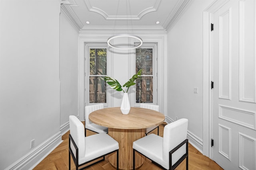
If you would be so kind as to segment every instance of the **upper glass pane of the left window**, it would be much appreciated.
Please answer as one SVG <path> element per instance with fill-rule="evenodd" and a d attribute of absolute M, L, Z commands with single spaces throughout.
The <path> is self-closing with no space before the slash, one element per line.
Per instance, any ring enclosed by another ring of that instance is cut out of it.
<path fill-rule="evenodd" d="M 106 75 L 107 49 L 90 49 L 90 75 Z"/>

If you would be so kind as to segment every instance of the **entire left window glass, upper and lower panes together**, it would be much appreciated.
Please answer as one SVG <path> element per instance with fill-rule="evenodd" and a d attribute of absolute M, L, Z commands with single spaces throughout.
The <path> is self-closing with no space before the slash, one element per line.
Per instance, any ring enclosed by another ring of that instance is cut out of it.
<path fill-rule="evenodd" d="M 106 103 L 106 82 L 104 76 L 107 72 L 107 49 L 89 48 L 90 75 L 89 75 L 89 101 L 90 103 Z"/>

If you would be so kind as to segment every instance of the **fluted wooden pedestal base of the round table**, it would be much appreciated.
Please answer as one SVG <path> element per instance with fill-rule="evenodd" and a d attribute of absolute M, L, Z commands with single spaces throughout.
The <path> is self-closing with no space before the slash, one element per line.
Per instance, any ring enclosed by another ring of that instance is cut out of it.
<path fill-rule="evenodd" d="M 132 143 L 145 136 L 145 129 L 114 129 L 108 128 L 108 135 L 119 143 L 119 169 L 132 170 Z M 142 166 L 145 157 L 135 152 L 136 168 Z M 110 164 L 116 167 L 116 152 L 108 158 Z"/>

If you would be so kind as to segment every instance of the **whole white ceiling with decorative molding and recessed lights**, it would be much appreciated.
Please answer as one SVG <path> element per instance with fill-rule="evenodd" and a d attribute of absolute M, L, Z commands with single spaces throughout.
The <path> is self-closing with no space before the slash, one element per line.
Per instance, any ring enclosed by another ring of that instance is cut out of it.
<path fill-rule="evenodd" d="M 192 0 L 62 0 L 79 31 L 166 32 Z"/>

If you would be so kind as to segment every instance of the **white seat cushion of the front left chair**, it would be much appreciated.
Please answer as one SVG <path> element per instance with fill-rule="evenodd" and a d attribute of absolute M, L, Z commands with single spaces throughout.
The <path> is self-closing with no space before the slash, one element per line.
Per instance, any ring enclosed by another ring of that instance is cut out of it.
<path fill-rule="evenodd" d="M 119 149 L 118 142 L 106 133 L 85 137 L 84 162 Z M 80 163 L 79 163 L 80 164 Z"/>

